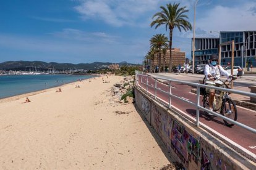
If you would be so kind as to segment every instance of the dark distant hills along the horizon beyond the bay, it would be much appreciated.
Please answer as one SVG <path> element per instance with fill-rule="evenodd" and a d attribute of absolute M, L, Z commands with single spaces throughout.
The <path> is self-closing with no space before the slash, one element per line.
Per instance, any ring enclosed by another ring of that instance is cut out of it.
<path fill-rule="evenodd" d="M 98 70 L 102 68 L 108 68 L 109 65 L 112 63 L 109 62 L 93 62 L 93 63 L 79 63 L 79 64 L 72 64 L 72 63 L 56 63 L 56 62 L 41 62 L 41 61 L 9 61 L 0 63 L 0 70 L 29 70 L 32 67 L 37 70 L 48 70 L 49 68 L 54 68 L 55 70 L 72 70 L 74 69 L 83 69 L 83 70 Z M 119 67 L 122 65 L 134 65 L 127 62 L 118 63 Z"/>

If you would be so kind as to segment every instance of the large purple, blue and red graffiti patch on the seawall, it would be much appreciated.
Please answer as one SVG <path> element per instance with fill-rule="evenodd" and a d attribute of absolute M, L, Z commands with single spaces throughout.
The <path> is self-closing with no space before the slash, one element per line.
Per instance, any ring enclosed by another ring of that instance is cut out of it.
<path fill-rule="evenodd" d="M 200 143 L 176 121 L 173 121 L 171 131 L 171 147 L 187 166 L 191 160 L 197 163 L 200 156 Z"/>

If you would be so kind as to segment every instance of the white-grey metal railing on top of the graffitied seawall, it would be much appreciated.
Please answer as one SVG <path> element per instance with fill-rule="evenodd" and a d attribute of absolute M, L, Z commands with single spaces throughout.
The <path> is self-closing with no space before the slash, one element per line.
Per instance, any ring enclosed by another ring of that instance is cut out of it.
<path fill-rule="evenodd" d="M 139 76 L 141 76 L 140 78 L 140 84 L 139 84 Z M 168 78 L 161 78 L 161 77 L 157 77 L 157 76 L 148 76 L 148 75 L 143 75 L 142 73 L 139 73 L 139 72 L 136 72 L 136 86 L 137 87 L 140 87 L 141 89 L 143 89 L 144 91 L 146 91 L 146 93 L 150 93 L 151 95 L 153 95 L 154 99 L 160 99 L 159 101 L 161 103 L 163 103 L 164 105 L 168 105 L 169 108 L 171 108 L 171 97 L 174 97 L 175 99 L 179 99 L 183 102 L 186 102 L 186 103 L 189 103 L 190 105 L 193 105 L 194 107 L 196 107 L 197 109 L 197 112 L 196 112 L 196 126 L 199 126 L 199 116 L 200 116 L 200 110 L 202 111 L 207 111 L 208 113 L 211 113 L 212 115 L 218 117 L 218 118 L 222 118 L 226 121 L 229 121 L 230 123 L 233 123 L 233 124 L 236 124 L 237 126 L 241 126 L 243 127 L 244 129 L 247 129 L 248 131 L 251 131 L 251 132 L 254 132 L 256 134 L 256 129 L 252 128 L 252 127 L 249 127 L 245 124 L 242 124 L 242 123 L 239 123 L 237 121 L 234 121 L 233 119 L 230 119 L 230 118 L 227 118 L 226 116 L 223 116 L 221 115 L 220 113 L 216 113 L 215 111 L 211 111 L 211 110 L 208 110 L 207 108 L 204 108 L 200 105 L 200 88 L 210 88 L 210 89 L 215 89 L 215 90 L 218 90 L 218 91 L 226 91 L 226 92 L 231 92 L 231 93 L 234 93 L 234 94 L 241 94 L 241 95 L 245 95 L 245 96 L 249 96 L 249 97 L 255 97 L 256 98 L 256 94 L 254 93 L 250 93 L 250 92 L 243 92 L 243 91 L 237 91 L 237 90 L 234 90 L 234 89 L 226 89 L 226 88 L 223 88 L 223 87 L 216 87 L 216 86 L 207 86 L 205 84 L 199 84 L 199 83 L 190 83 L 190 82 L 186 82 L 186 81 L 179 81 L 179 80 L 175 80 L 175 79 L 168 79 Z M 146 83 L 143 82 L 143 78 L 147 81 Z M 155 85 L 154 86 L 151 86 L 148 84 L 148 78 L 152 78 L 152 79 L 155 79 Z M 162 89 L 158 88 L 157 87 L 157 79 L 163 79 L 165 81 L 168 81 L 169 83 L 169 91 L 166 92 L 166 91 L 163 91 Z M 175 83 L 181 83 L 181 84 L 187 84 L 189 86 L 195 86 L 197 87 L 197 102 L 194 103 L 194 102 L 191 102 L 189 100 L 186 100 L 182 97 L 179 97 L 177 95 L 174 95 L 172 94 L 171 92 L 171 83 L 172 82 L 175 82 Z M 146 88 L 143 88 L 142 87 L 142 84 L 144 84 L 146 86 Z M 148 91 L 148 87 L 151 87 L 151 88 L 154 88 L 155 91 L 154 91 L 154 94 L 152 94 L 151 92 Z M 157 91 L 161 91 L 163 92 L 164 94 L 168 94 L 168 102 L 164 101 L 163 99 L 161 99 L 160 97 L 157 96 Z"/>

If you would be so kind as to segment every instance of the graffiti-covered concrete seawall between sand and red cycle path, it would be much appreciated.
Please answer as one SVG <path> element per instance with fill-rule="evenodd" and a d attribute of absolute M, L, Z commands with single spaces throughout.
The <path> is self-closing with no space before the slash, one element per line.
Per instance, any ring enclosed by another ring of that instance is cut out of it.
<path fill-rule="evenodd" d="M 135 102 L 184 169 L 256 169 L 256 163 L 136 88 Z"/>

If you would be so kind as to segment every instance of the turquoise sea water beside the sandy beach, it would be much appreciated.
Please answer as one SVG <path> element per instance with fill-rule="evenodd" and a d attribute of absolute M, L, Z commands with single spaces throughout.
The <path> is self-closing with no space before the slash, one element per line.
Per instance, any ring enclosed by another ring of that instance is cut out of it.
<path fill-rule="evenodd" d="M 0 76 L 0 99 L 88 79 L 93 76 L 74 75 L 4 75 Z"/>

